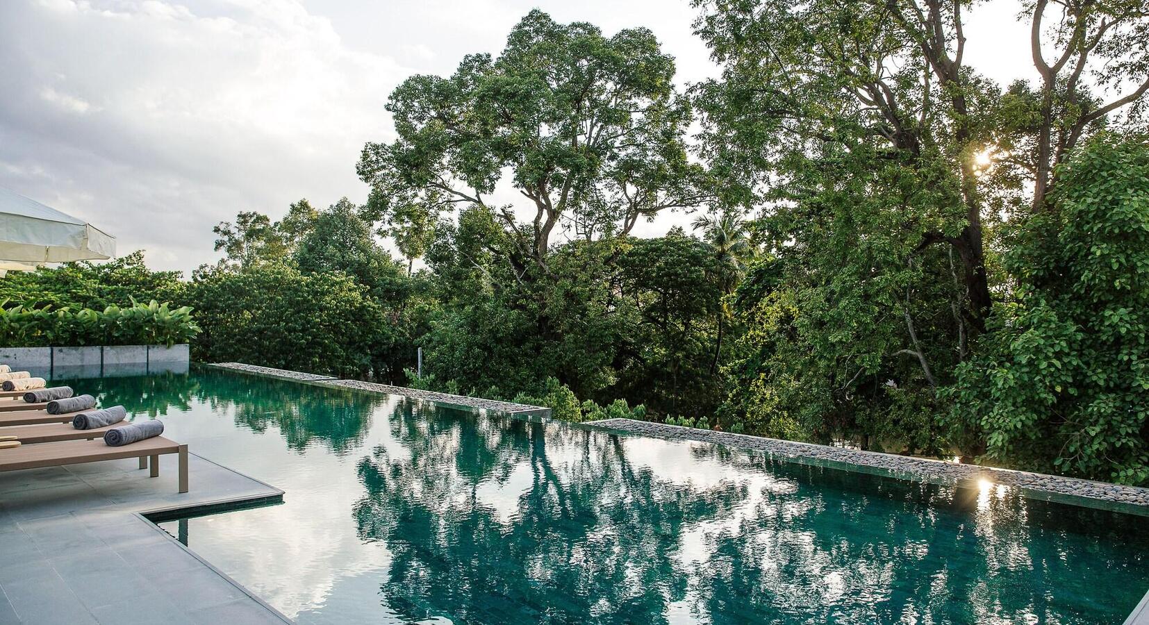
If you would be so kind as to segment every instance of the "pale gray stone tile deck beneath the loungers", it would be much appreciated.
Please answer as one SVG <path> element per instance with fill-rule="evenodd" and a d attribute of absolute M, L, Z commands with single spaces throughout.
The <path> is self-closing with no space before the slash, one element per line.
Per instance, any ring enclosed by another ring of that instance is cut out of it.
<path fill-rule="evenodd" d="M 160 477 L 136 460 L 0 473 L 0 624 L 284 624 L 290 620 L 139 512 L 283 493 L 190 457 Z"/>

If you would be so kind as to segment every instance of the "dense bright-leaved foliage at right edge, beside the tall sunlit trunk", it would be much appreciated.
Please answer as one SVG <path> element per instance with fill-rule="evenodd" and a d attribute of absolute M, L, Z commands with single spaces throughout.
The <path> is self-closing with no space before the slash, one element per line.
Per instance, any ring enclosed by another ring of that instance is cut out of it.
<path fill-rule="evenodd" d="M 1103 136 L 1016 234 L 1003 303 L 954 393 L 1018 466 L 1149 481 L 1149 144 Z M 965 417 L 965 418 L 962 418 Z"/>

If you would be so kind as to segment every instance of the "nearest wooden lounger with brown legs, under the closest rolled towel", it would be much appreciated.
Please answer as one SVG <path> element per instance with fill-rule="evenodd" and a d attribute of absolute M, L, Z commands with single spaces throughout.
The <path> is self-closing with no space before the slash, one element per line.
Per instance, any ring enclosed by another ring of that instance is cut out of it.
<path fill-rule="evenodd" d="M 64 442 L 45 442 L 26 445 L 15 449 L 0 450 L 0 471 L 18 469 L 43 469 L 45 466 L 64 466 L 103 462 L 107 460 L 140 458 L 140 469 L 148 463 L 152 466 L 151 477 L 160 474 L 160 456 L 163 454 L 179 455 L 179 492 L 187 492 L 187 446 L 179 445 L 163 437 L 153 437 L 141 441 L 111 447 L 99 440 L 74 440 Z"/>

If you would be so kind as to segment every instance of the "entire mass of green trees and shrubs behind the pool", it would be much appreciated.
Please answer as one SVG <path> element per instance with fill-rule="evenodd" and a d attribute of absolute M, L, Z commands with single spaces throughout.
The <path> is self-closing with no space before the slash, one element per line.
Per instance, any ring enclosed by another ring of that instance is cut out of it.
<path fill-rule="evenodd" d="M 11 275 L 3 307 L 154 291 L 199 360 L 1149 484 L 1144 2 L 1025 0 L 1011 84 L 970 63 L 980 1 L 694 5 L 714 79 L 532 10 L 392 92 L 362 205 L 241 211 L 191 281 Z"/>

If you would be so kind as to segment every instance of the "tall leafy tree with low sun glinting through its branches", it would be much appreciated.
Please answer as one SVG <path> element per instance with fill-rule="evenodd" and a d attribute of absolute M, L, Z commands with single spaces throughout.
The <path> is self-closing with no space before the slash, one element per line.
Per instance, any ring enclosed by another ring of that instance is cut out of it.
<path fill-rule="evenodd" d="M 966 64 L 973 2 L 696 5 L 723 68 L 696 90 L 701 153 L 768 253 L 733 404 L 787 435 L 981 453 L 932 415 L 1015 285 L 1002 233 L 1048 210 L 1082 140 L 1138 123 L 1143 5 L 1026 5 L 1040 82 L 1005 88 Z"/>

